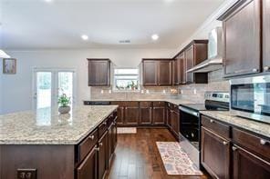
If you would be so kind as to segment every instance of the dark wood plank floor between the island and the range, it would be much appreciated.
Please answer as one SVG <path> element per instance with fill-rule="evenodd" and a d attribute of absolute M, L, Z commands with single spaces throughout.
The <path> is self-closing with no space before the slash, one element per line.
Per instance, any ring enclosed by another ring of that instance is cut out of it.
<path fill-rule="evenodd" d="M 174 142 L 167 129 L 138 129 L 137 134 L 119 134 L 109 169 L 109 179 L 206 179 L 206 175 L 169 176 L 161 161 L 157 141 Z"/>

